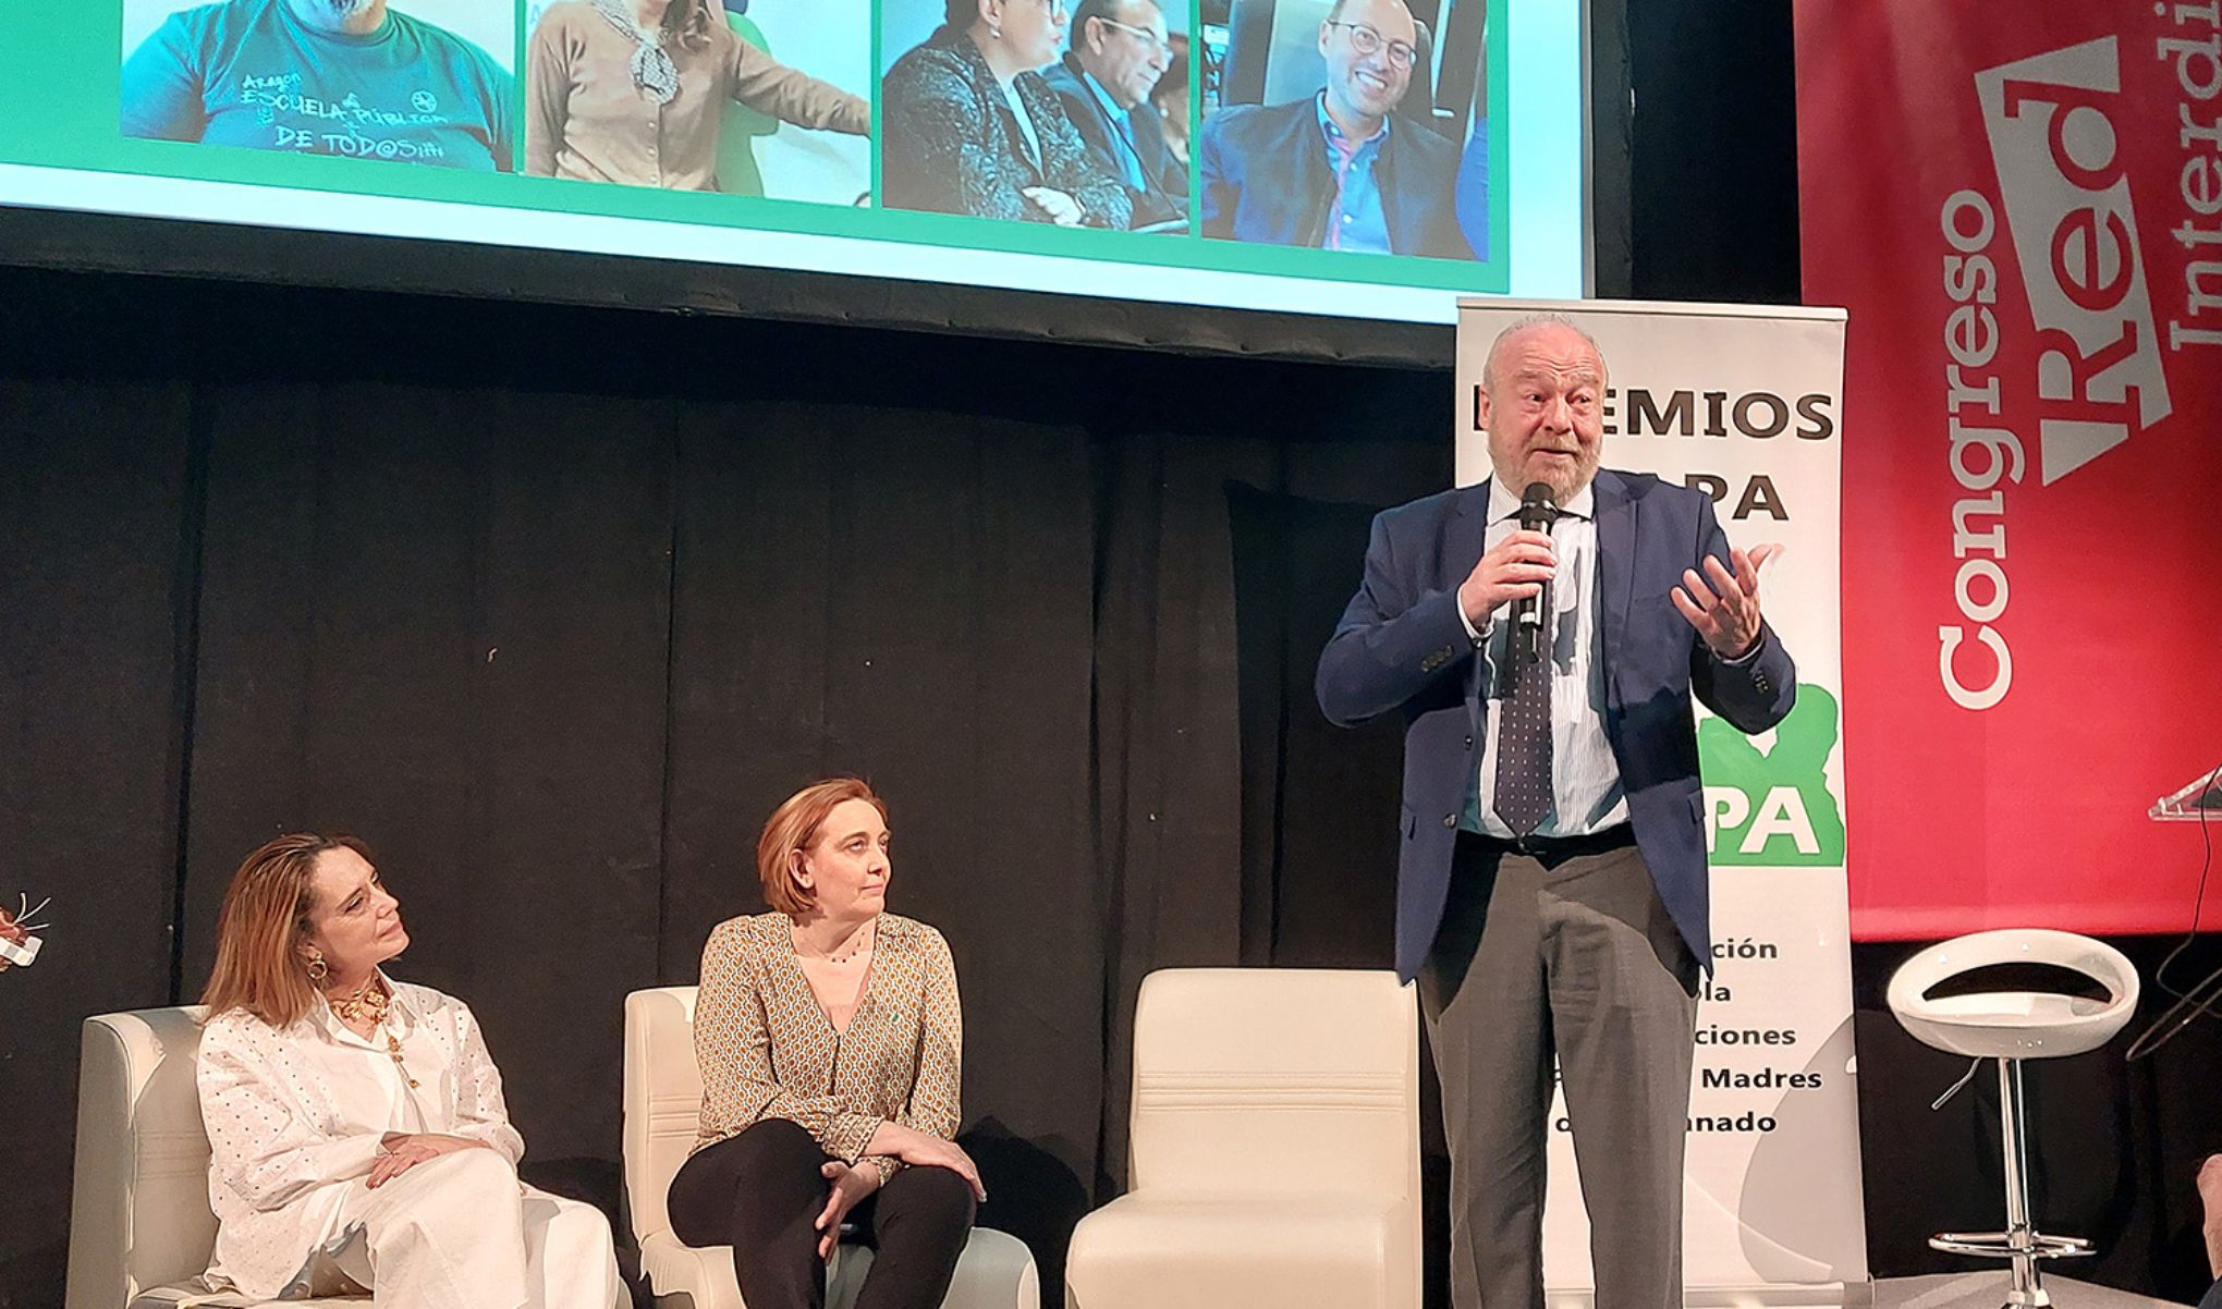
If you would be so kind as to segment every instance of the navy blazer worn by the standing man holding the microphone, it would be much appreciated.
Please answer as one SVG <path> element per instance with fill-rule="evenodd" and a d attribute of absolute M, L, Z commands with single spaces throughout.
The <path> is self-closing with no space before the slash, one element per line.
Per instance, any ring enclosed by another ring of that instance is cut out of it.
<path fill-rule="evenodd" d="M 1682 569 L 1729 562 L 1729 538 L 1700 491 L 1600 469 L 1598 604 L 1604 644 L 1604 738 L 1620 765 L 1635 845 L 1682 940 L 1713 958 L 1704 871 L 1704 793 L 1691 693 L 1740 731 L 1791 711 L 1798 669 L 1771 627 L 1760 651 L 1724 665 L 1675 611 Z M 1427 962 L 1451 891 L 1451 847 L 1482 760 L 1489 716 L 1482 660 L 1458 620 L 1458 584 L 1482 558 L 1489 482 L 1389 509 L 1373 520 L 1367 576 L 1320 651 L 1320 709 L 1349 727 L 1404 713 L 1402 853 L 1395 880 L 1395 971 Z"/>

